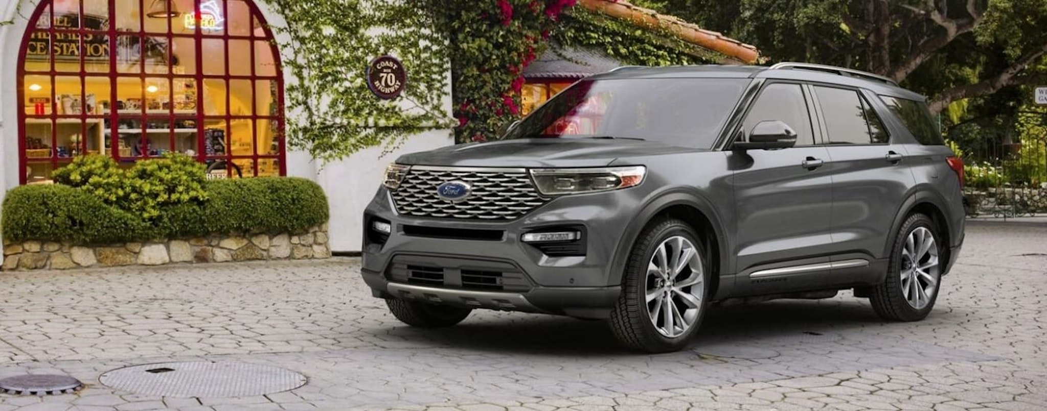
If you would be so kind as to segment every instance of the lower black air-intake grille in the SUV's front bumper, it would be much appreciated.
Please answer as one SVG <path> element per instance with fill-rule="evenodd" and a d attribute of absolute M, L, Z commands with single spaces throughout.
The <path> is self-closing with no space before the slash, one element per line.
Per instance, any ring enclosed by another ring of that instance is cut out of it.
<path fill-rule="evenodd" d="M 462 258 L 398 255 L 388 279 L 442 289 L 527 292 L 531 281 L 513 265 Z"/>

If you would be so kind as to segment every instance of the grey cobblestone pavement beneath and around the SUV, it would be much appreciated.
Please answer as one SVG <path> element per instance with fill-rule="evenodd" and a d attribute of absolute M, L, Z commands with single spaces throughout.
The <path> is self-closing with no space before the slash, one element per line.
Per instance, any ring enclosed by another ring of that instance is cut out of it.
<path fill-rule="evenodd" d="M 715 307 L 689 350 L 623 351 L 600 321 L 475 312 L 408 328 L 357 260 L 0 273 L 0 378 L 62 373 L 25 410 L 1047 410 L 1047 229 L 971 224 L 931 316 L 878 320 L 850 293 Z M 231 398 L 108 388 L 103 372 L 240 361 L 306 374 Z"/>

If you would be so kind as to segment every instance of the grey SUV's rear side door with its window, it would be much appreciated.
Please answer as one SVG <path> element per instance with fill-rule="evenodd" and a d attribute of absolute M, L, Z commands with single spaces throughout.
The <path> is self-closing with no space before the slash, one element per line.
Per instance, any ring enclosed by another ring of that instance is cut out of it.
<path fill-rule="evenodd" d="M 832 180 L 833 268 L 828 284 L 875 280 L 886 270 L 881 255 L 898 206 L 914 185 L 913 159 L 891 138 L 886 108 L 856 89 L 810 86 Z"/>

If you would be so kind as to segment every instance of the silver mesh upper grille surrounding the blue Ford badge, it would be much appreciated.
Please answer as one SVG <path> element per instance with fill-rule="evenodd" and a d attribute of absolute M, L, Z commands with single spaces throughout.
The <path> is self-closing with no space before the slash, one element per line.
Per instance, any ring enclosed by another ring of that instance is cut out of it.
<path fill-rule="evenodd" d="M 458 203 L 437 196 L 437 187 L 455 180 L 469 183 L 472 195 Z M 548 201 L 524 169 L 414 166 L 393 191 L 401 214 L 444 219 L 513 220 Z"/>

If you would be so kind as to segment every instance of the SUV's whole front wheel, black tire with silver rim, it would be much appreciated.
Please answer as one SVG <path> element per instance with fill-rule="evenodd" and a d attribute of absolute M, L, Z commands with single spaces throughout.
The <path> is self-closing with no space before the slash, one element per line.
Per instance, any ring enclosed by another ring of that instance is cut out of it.
<path fill-rule="evenodd" d="M 660 256 L 663 248 L 665 257 Z M 675 265 L 683 269 L 663 275 L 664 268 L 680 262 L 681 253 L 687 253 L 687 249 L 691 253 L 686 254 L 688 262 Z M 705 247 L 687 223 L 664 219 L 648 225 L 629 253 L 622 294 L 610 313 L 610 328 L 618 341 L 646 352 L 671 352 L 686 347 L 700 327 L 709 305 L 706 257 Z M 649 272 L 650 265 L 654 270 Z M 675 311 L 678 317 L 666 315 L 667 311 Z M 684 326 L 676 326 L 676 322 Z"/>

